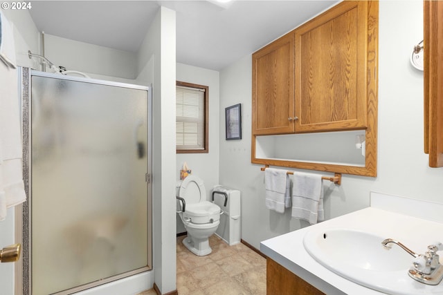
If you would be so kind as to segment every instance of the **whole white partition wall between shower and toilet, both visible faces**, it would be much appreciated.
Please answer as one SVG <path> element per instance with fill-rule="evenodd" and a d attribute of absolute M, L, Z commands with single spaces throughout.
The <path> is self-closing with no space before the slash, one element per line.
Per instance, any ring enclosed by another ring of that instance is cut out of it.
<path fill-rule="evenodd" d="M 152 211 L 155 283 L 176 289 L 175 12 L 161 7 L 139 50 L 137 81 L 152 83 Z M 172 106 L 172 107 L 171 107 Z"/>

